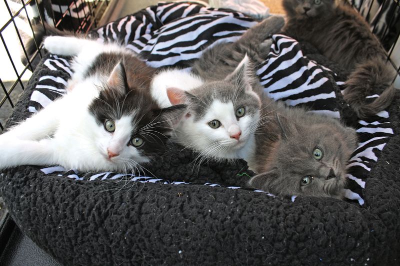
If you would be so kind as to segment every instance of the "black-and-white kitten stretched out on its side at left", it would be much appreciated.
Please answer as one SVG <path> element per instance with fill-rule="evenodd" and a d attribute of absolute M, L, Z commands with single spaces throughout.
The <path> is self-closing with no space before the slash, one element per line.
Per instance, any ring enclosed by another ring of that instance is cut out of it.
<path fill-rule="evenodd" d="M 0 169 L 134 172 L 164 152 L 185 107 L 158 108 L 148 94 L 154 69 L 116 44 L 51 36 L 44 47 L 74 55 L 74 73 L 66 94 L 0 135 Z"/>

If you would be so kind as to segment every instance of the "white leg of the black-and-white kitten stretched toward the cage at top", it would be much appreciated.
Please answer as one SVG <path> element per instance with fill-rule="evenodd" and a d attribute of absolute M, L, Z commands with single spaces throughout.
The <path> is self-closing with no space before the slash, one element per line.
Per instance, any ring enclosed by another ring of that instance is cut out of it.
<path fill-rule="evenodd" d="M 44 39 L 43 45 L 50 53 L 64 56 L 77 55 L 88 46 L 92 50 L 101 48 L 101 43 L 95 40 L 66 36 L 48 36 Z"/>

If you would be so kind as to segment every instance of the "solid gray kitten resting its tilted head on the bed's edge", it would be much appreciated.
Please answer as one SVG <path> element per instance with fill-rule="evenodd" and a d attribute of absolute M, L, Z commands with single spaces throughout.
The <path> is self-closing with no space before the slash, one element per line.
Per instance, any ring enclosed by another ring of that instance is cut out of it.
<path fill-rule="evenodd" d="M 277 103 L 271 121 L 256 131 L 258 175 L 249 186 L 274 195 L 342 198 L 346 164 L 357 146 L 355 130 L 337 120 Z"/>

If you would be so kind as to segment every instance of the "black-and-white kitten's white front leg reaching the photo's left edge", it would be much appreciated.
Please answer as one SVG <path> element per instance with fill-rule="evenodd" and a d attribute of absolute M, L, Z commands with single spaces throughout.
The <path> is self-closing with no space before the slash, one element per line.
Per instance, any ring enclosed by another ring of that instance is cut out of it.
<path fill-rule="evenodd" d="M 52 139 L 40 141 L 0 139 L 0 169 L 19 165 L 56 164 Z"/>

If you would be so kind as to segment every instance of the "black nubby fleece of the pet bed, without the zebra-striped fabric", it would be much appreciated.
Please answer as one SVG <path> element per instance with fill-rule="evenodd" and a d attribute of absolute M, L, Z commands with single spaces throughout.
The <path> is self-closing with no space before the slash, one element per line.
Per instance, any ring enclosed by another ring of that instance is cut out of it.
<path fill-rule="evenodd" d="M 33 73 L 7 126 L 29 115 L 42 75 Z M 193 167 L 195 155 L 179 147 L 148 169 L 189 185 L 79 181 L 21 166 L 2 174 L 1 195 L 18 227 L 65 265 L 400 265 L 399 96 L 388 110 L 395 136 L 369 173 L 362 207 L 226 188 L 252 175 L 244 161 Z"/>

